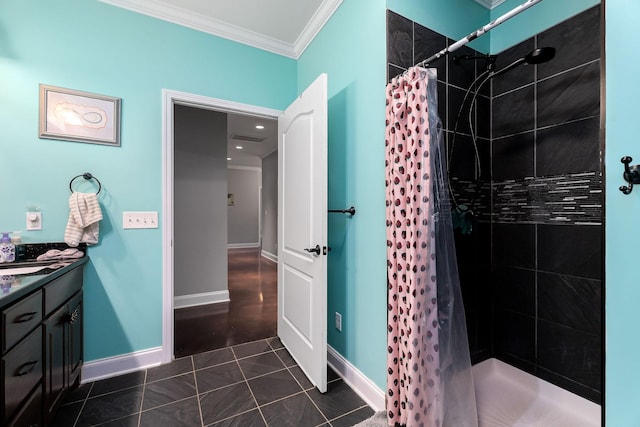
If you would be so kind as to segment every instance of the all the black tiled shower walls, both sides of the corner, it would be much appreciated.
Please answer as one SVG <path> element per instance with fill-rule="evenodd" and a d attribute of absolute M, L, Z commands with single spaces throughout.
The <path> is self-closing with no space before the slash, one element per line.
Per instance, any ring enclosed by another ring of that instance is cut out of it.
<path fill-rule="evenodd" d="M 602 370 L 600 7 L 498 54 L 497 68 L 534 47 L 556 58 L 483 87 L 472 126 L 458 127 L 451 182 L 480 222 L 456 236 L 472 362 L 498 357 L 596 402 Z M 387 15 L 389 79 L 453 40 Z M 457 55 L 477 55 L 464 47 Z M 464 93 L 484 61 L 438 68 L 449 152 Z M 490 88 L 490 91 L 489 91 Z M 492 127 L 489 124 L 492 123 Z M 487 176 L 491 171 L 491 179 Z"/>

